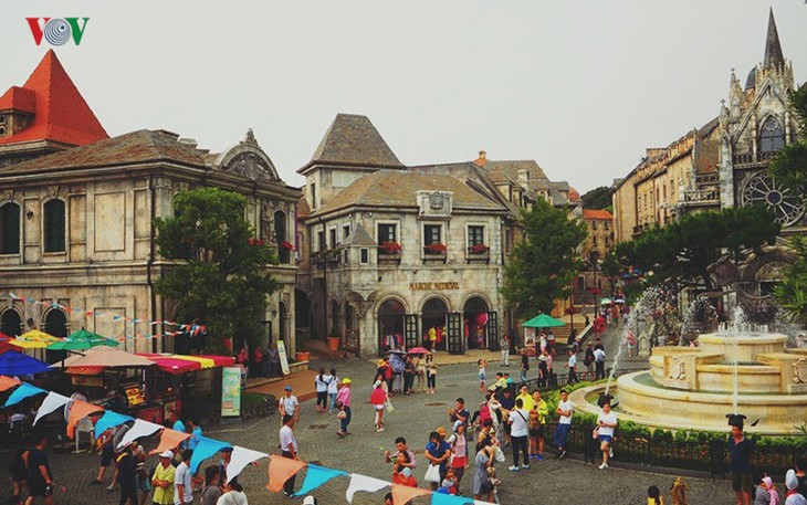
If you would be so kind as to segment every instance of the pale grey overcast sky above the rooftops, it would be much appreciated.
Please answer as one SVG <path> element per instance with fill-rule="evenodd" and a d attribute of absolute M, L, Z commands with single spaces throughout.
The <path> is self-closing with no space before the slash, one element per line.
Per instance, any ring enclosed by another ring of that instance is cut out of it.
<path fill-rule="evenodd" d="M 0 93 L 50 48 L 25 17 L 88 17 L 56 53 L 109 135 L 221 150 L 252 127 L 291 185 L 337 113 L 405 164 L 535 159 L 580 192 L 719 114 L 768 8 L 797 83 L 804 0 L 31 0 L 0 7 Z"/>

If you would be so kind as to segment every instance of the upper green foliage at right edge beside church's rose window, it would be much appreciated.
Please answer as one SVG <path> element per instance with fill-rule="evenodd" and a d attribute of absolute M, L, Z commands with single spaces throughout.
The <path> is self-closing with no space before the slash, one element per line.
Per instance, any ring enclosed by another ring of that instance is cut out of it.
<path fill-rule="evenodd" d="M 782 148 L 771 161 L 773 178 L 792 194 L 807 194 L 807 84 L 790 93 L 790 108 L 801 129 L 801 138 Z"/>

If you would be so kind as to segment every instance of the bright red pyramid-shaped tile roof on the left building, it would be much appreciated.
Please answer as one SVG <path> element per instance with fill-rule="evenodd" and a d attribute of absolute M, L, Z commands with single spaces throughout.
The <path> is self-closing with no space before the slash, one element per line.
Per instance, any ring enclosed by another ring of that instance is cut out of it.
<path fill-rule="evenodd" d="M 53 140 L 83 146 L 108 138 L 53 50 L 48 51 L 28 82 L 0 97 L 0 109 L 34 113 L 28 128 L 0 138 L 0 144 Z"/>

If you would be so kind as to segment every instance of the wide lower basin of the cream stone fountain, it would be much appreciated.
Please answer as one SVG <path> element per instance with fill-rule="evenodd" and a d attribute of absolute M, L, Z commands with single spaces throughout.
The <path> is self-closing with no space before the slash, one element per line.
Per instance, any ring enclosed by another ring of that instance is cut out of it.
<path fill-rule="evenodd" d="M 605 386 L 578 389 L 569 396 L 575 410 L 598 414 L 597 398 Z M 656 383 L 649 371 L 628 374 L 611 386 L 611 394 L 619 401 L 618 418 L 649 428 L 668 430 L 706 430 L 729 432 L 725 414 L 735 412 L 731 393 L 682 391 Z M 798 425 L 807 419 L 807 393 L 756 394 L 741 393 L 736 412 L 745 414 L 750 432 L 772 435 L 803 434 Z"/>

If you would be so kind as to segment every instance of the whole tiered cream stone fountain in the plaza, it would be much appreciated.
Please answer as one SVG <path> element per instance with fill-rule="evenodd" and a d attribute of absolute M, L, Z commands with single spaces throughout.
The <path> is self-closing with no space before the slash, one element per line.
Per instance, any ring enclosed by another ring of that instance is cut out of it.
<path fill-rule="evenodd" d="M 619 419 L 651 428 L 727 431 L 726 412 L 742 412 L 748 431 L 801 433 L 807 349 L 786 344 L 780 334 L 721 332 L 701 335 L 696 348 L 656 347 L 650 370 L 617 379 Z M 572 401 L 578 411 L 599 413 L 597 399 L 605 389 L 574 391 Z"/>

